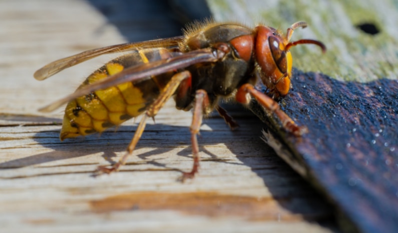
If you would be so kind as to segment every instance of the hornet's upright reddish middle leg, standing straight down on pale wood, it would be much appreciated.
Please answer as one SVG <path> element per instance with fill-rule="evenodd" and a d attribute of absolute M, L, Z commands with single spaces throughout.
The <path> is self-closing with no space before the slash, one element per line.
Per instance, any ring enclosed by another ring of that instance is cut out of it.
<path fill-rule="evenodd" d="M 198 172 L 199 168 L 199 145 L 196 135 L 199 133 L 200 126 L 203 119 L 203 109 L 209 106 L 209 98 L 205 90 L 197 90 L 195 95 L 195 106 L 193 109 L 192 123 L 191 123 L 191 143 L 192 143 L 192 156 L 193 166 L 190 172 L 184 172 L 182 180 L 193 178 Z"/>

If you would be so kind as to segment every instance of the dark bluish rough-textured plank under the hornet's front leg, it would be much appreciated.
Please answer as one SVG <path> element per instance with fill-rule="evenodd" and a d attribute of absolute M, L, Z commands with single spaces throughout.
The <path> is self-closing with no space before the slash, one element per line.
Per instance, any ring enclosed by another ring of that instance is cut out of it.
<path fill-rule="evenodd" d="M 294 81 L 281 105 L 309 133 L 276 136 L 291 145 L 279 154 L 339 207 L 342 224 L 349 217 L 363 232 L 391 232 L 398 217 L 398 82 L 346 83 L 299 71 Z"/>

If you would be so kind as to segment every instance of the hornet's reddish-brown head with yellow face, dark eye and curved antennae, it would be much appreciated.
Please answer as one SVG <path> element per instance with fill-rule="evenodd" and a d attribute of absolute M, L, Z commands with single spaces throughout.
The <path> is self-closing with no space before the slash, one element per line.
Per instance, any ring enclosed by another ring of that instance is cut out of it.
<path fill-rule="evenodd" d="M 279 96 L 285 96 L 290 89 L 292 69 L 290 47 L 298 44 L 315 44 L 319 46 L 323 52 L 326 51 L 326 47 L 319 41 L 304 39 L 289 42 L 296 28 L 305 28 L 306 26 L 307 24 L 305 22 L 294 23 L 287 29 L 286 36 L 284 37 L 271 27 L 256 27 L 255 56 L 261 68 L 261 79 L 267 88 L 273 90 L 273 92 Z"/>

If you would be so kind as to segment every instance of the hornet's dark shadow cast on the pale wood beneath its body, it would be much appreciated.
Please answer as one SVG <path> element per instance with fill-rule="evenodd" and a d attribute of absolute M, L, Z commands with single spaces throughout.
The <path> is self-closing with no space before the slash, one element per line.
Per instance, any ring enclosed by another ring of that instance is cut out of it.
<path fill-rule="evenodd" d="M 43 121 L 46 121 L 46 119 L 47 118 L 43 119 Z M 247 153 L 247 149 L 249 147 L 253 148 L 260 145 L 261 148 L 262 146 L 265 146 L 260 140 L 261 132 L 258 130 L 258 125 L 261 125 L 262 123 L 255 116 L 246 112 L 238 114 L 236 119 L 241 122 L 241 129 L 237 131 L 231 131 L 224 123 L 223 119 L 216 114 L 213 114 L 208 119 L 204 120 L 204 124 L 207 125 L 207 127 L 202 127 L 205 129 L 201 130 L 201 134 L 198 138 L 202 160 L 231 164 L 241 164 L 241 162 L 243 162 L 220 158 L 217 154 L 212 152 L 212 149 L 207 149 L 208 147 L 213 147 L 220 143 L 225 144 L 232 154 L 241 157 Z M 52 118 L 52 120 L 54 119 Z M 29 121 L 29 119 L 27 119 L 27 121 Z M 60 120 L 58 119 L 54 121 L 59 122 Z M 38 144 L 51 148 L 54 151 L 0 163 L 0 168 L 22 168 L 58 160 L 83 157 L 95 153 L 102 153 L 102 157 L 108 163 L 115 163 L 118 160 L 116 152 L 125 151 L 126 146 L 135 133 L 135 130 L 136 126 L 120 126 L 117 129 L 113 128 L 107 130 L 101 135 L 93 134 L 86 137 L 66 139 L 64 142 L 61 142 L 59 139 L 59 130 L 41 131 L 34 135 L 34 140 Z M 156 158 L 152 159 L 151 157 L 170 152 L 175 148 L 181 148 L 181 150 L 177 150 L 176 155 L 191 158 L 192 151 L 190 137 L 189 125 L 172 126 L 166 124 L 148 124 L 137 148 L 153 149 L 146 150 L 142 153 L 137 151 L 131 157 L 137 156 L 144 160 L 145 163 L 167 168 L 167 162 L 161 162 L 162 158 L 156 156 Z M 258 145 L 254 145 L 253 143 Z M 244 156 L 242 158 L 244 159 Z M 94 162 L 89 164 L 93 164 L 94 170 L 96 165 L 103 162 L 104 161 L 98 160 L 98 163 Z M 82 165 L 82 163 L 72 165 Z M 122 171 L 123 170 L 125 169 L 122 168 Z"/>

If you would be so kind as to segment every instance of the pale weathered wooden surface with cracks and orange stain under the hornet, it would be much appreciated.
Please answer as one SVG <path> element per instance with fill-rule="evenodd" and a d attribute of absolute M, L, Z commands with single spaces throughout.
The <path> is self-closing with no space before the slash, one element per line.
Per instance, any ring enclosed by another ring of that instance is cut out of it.
<path fill-rule="evenodd" d="M 186 183 L 177 178 L 192 165 L 191 113 L 172 102 L 156 124 L 148 122 L 137 156 L 118 173 L 93 176 L 98 165 L 123 154 L 133 121 L 117 132 L 59 141 L 62 110 L 37 109 L 73 92 L 111 57 L 44 82 L 33 73 L 125 38 L 179 34 L 167 14 L 161 17 L 164 1 L 147 2 L 0 2 L 1 231 L 338 232 L 331 207 L 261 141 L 263 124 L 241 108 L 230 109 L 238 131 L 217 115 L 204 121 L 200 173 Z"/>

